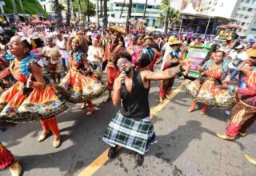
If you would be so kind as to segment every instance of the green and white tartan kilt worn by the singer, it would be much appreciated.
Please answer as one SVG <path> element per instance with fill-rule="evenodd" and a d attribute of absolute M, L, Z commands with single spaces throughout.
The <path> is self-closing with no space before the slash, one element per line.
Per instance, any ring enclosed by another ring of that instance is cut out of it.
<path fill-rule="evenodd" d="M 139 154 L 145 154 L 150 144 L 157 142 L 150 117 L 137 121 L 120 113 L 111 120 L 102 139 L 110 146 L 122 146 Z"/>

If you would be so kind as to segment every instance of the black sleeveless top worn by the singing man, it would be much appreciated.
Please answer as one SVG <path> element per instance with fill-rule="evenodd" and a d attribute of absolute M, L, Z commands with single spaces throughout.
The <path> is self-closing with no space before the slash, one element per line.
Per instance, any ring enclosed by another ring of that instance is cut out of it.
<path fill-rule="evenodd" d="M 121 114 L 126 118 L 134 118 L 141 120 L 150 116 L 149 106 L 149 88 L 145 88 L 142 83 L 141 73 L 134 70 L 134 77 L 130 93 L 126 86 L 122 86 L 121 98 L 122 108 Z"/>

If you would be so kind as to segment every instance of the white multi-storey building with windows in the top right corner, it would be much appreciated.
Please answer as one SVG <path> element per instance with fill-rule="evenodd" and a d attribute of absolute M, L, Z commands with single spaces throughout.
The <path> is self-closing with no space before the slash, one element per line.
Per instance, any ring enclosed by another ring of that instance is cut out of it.
<path fill-rule="evenodd" d="M 234 18 L 237 22 L 232 24 L 241 26 L 238 35 L 246 37 L 256 21 L 256 0 L 204 0 L 199 12 Z"/>

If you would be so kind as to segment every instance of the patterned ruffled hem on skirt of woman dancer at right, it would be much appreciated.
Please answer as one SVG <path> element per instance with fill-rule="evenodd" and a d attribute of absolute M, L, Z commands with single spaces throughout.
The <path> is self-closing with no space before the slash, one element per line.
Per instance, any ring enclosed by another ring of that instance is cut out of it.
<path fill-rule="evenodd" d="M 191 93 L 190 90 L 186 89 L 186 85 L 183 86 L 183 89 L 185 90 L 186 95 L 192 99 L 193 102 L 202 102 L 208 106 L 210 106 L 211 108 L 229 108 L 229 107 L 233 107 L 236 103 L 237 100 L 234 96 L 232 96 L 231 98 L 228 98 L 225 102 L 216 102 L 215 99 L 206 99 L 206 98 L 198 98 L 198 97 L 194 97 L 194 95 Z"/>

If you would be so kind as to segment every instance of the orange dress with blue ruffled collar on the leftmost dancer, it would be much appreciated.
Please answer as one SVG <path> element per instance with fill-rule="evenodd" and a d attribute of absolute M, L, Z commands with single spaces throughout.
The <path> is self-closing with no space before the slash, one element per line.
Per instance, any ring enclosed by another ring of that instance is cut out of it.
<path fill-rule="evenodd" d="M 66 110 L 67 106 L 59 99 L 58 91 L 53 86 L 30 88 L 25 94 L 24 86 L 31 74 L 29 67 L 32 63 L 40 65 L 33 54 L 21 62 L 15 58 L 11 61 L 9 70 L 18 82 L 0 95 L 0 121 L 27 122 L 48 118 Z"/>

